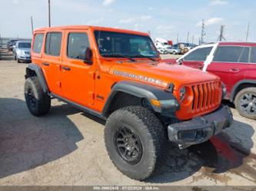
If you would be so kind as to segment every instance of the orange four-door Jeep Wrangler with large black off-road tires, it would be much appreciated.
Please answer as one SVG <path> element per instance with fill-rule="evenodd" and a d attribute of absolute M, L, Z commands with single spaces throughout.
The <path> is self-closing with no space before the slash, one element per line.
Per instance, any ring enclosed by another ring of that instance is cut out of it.
<path fill-rule="evenodd" d="M 39 28 L 26 68 L 25 100 L 35 115 L 51 98 L 106 120 L 105 147 L 132 179 L 147 179 L 170 140 L 181 149 L 229 127 L 224 87 L 213 74 L 161 60 L 146 33 L 93 26 Z"/>

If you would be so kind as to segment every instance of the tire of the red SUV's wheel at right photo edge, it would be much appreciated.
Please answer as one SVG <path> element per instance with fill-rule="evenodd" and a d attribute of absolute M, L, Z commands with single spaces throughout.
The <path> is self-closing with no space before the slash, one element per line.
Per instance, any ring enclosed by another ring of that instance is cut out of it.
<path fill-rule="evenodd" d="M 244 97 L 245 94 L 254 94 L 254 96 L 256 96 L 256 87 L 247 87 L 239 91 L 234 98 L 235 108 L 238 110 L 238 113 L 241 114 L 241 116 L 247 117 L 248 119 L 251 119 L 251 120 L 256 120 L 256 112 L 250 113 L 245 110 L 242 110 L 241 99 L 242 97 Z M 255 100 L 254 100 L 254 103 L 255 103 Z"/>

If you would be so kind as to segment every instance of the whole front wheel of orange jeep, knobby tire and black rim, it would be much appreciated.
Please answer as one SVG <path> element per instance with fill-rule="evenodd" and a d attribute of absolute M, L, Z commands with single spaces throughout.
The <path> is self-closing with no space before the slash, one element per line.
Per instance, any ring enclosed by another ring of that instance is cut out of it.
<path fill-rule="evenodd" d="M 158 117 L 144 107 L 116 110 L 105 125 L 108 156 L 131 179 L 147 179 L 154 173 L 166 142 L 166 130 Z"/>

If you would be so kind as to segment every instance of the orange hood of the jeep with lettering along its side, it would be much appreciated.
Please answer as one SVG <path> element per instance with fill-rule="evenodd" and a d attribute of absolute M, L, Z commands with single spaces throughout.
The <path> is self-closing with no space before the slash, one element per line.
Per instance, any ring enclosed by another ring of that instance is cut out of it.
<path fill-rule="evenodd" d="M 155 62 L 124 62 L 112 65 L 109 72 L 118 77 L 154 84 L 159 87 L 167 87 L 168 84 L 173 83 L 175 90 L 181 85 L 219 79 L 214 74 L 165 62 L 158 62 L 157 64 Z"/>

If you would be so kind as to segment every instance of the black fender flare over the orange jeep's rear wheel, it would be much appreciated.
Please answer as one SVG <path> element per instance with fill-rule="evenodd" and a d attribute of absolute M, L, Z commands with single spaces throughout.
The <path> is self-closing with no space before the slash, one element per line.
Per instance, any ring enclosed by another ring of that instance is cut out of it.
<path fill-rule="evenodd" d="M 40 68 L 37 64 L 28 64 L 28 67 L 26 68 L 26 74 L 25 78 L 34 76 L 32 71 L 35 72 L 36 76 L 38 77 L 38 81 L 45 93 L 49 92 L 48 84 L 45 81 L 45 75 L 42 71 L 42 68 Z"/>

